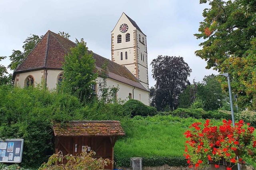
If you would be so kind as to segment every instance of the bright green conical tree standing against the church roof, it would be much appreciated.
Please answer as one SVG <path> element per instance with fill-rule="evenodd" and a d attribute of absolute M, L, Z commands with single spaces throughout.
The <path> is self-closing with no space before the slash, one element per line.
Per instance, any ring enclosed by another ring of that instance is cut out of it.
<path fill-rule="evenodd" d="M 63 63 L 64 80 L 61 90 L 77 96 L 81 102 L 88 102 L 93 98 L 92 86 L 95 84 L 95 60 L 88 51 L 86 42 L 76 40 L 77 46 L 70 49 Z"/>

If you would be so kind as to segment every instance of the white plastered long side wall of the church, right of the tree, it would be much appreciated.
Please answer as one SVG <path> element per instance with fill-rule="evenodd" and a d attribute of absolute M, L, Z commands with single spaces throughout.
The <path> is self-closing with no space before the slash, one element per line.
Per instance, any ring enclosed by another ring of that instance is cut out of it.
<path fill-rule="evenodd" d="M 98 82 L 102 81 L 103 79 L 98 77 L 96 82 L 98 84 Z M 128 96 L 129 96 L 129 93 L 130 94 L 133 94 L 133 89 L 134 87 L 133 86 L 129 86 L 128 84 L 124 84 L 124 83 L 121 83 L 121 82 L 118 82 L 116 80 L 113 80 L 111 78 L 108 78 L 107 79 L 107 86 L 115 86 L 117 87 L 119 85 L 119 91 L 117 92 L 117 98 L 118 99 L 121 99 L 121 100 L 129 100 Z M 97 94 L 98 96 L 100 96 L 100 92 L 99 92 L 99 89 L 98 89 L 98 85 L 97 85 Z M 134 96 L 133 98 L 135 100 L 140 100 L 143 104 L 146 104 L 149 106 L 149 101 L 148 101 L 148 94 L 149 92 L 146 92 L 144 90 L 141 90 L 141 89 L 138 89 L 138 88 L 135 88 L 134 89 Z"/>

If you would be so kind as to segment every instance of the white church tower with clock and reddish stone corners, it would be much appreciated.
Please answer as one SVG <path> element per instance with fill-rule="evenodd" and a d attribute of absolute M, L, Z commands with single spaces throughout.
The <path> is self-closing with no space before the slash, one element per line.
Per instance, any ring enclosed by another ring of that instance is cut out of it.
<path fill-rule="evenodd" d="M 125 66 L 148 90 L 148 53 L 146 35 L 135 21 L 122 14 L 111 32 L 112 61 Z"/>

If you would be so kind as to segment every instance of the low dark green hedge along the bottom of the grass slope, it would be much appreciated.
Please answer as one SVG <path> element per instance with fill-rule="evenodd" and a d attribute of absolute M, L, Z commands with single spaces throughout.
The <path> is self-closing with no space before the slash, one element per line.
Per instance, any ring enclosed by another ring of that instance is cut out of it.
<path fill-rule="evenodd" d="M 130 167 L 130 158 L 114 159 L 118 167 Z M 188 166 L 184 156 L 172 157 L 142 157 L 142 166 L 162 166 L 168 164 L 169 166 Z"/>

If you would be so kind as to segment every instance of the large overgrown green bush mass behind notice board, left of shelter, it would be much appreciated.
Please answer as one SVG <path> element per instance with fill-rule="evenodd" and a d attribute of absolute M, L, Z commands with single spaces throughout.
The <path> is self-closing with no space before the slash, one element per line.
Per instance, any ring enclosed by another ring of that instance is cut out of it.
<path fill-rule="evenodd" d="M 79 100 L 68 94 L 0 86 L 0 100 L 0 139 L 24 139 L 24 167 L 38 167 L 52 154 L 53 121 L 83 119 Z"/>

